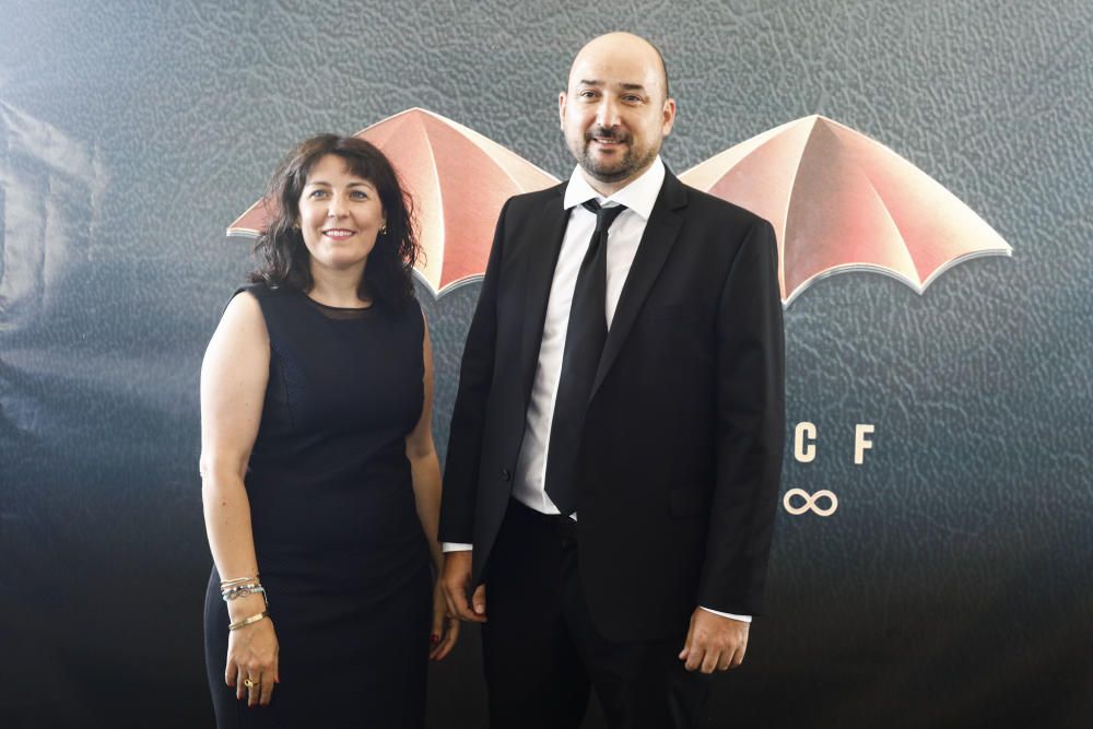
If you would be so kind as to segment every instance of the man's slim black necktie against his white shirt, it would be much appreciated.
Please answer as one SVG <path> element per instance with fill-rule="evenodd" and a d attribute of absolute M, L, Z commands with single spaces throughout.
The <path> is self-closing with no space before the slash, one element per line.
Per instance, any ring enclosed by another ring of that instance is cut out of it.
<path fill-rule="evenodd" d="M 608 231 L 626 210 L 623 205 L 601 208 L 595 200 L 586 202 L 585 208 L 596 213 L 596 231 L 573 290 L 546 452 L 546 494 L 562 514 L 577 509 L 577 458 L 585 431 L 585 409 L 608 338 Z"/>

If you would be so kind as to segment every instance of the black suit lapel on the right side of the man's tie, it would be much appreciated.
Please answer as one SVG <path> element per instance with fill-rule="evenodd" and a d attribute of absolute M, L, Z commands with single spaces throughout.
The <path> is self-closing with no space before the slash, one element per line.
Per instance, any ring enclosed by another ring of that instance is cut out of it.
<path fill-rule="evenodd" d="M 668 260 L 668 254 L 671 252 L 680 226 L 683 224 L 683 217 L 675 211 L 685 205 L 686 191 L 683 184 L 668 172 L 665 175 L 660 195 L 657 197 L 657 203 L 653 207 L 653 213 L 649 215 L 649 222 L 645 226 L 645 234 L 637 246 L 637 254 L 630 267 L 622 294 L 619 296 L 619 305 L 615 307 L 614 318 L 611 320 L 608 340 L 603 344 L 603 354 L 600 355 L 600 364 L 596 369 L 596 379 L 592 381 L 592 392 L 589 400 L 596 397 L 596 391 L 600 388 L 608 371 L 611 369 L 611 365 L 614 364 L 615 357 L 619 356 L 649 289 L 653 287 L 660 269 Z"/>

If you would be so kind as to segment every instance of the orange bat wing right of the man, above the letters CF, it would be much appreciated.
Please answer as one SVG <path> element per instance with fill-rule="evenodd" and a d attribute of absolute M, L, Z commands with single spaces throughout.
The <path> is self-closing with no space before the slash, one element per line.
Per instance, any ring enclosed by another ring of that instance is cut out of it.
<path fill-rule="evenodd" d="M 1013 252 L 929 175 L 822 116 L 763 132 L 680 178 L 771 221 L 785 306 L 841 271 L 885 273 L 921 294 L 956 263 Z"/>

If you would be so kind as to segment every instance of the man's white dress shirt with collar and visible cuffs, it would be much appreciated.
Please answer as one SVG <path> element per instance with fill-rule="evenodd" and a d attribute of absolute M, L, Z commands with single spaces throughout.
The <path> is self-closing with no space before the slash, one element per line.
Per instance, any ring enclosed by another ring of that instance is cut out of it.
<path fill-rule="evenodd" d="M 580 261 L 596 231 L 596 213 L 584 208 L 584 203 L 596 200 L 603 208 L 626 207 L 608 231 L 608 282 L 603 316 L 610 330 L 623 284 L 626 283 L 630 267 L 634 262 L 637 246 L 645 234 L 645 225 L 653 214 L 653 205 L 657 202 L 663 181 L 665 163 L 659 156 L 640 177 L 610 197 L 603 197 L 592 189 L 579 166 L 569 175 L 569 184 L 565 187 L 565 198 L 562 201 L 562 205 L 569 211 L 569 222 L 562 239 L 562 249 L 559 251 L 554 279 L 551 282 L 550 298 L 546 302 L 546 320 L 543 324 L 542 342 L 539 345 L 539 364 L 536 367 L 524 442 L 516 461 L 513 482 L 513 498 L 542 514 L 559 514 L 554 502 L 546 495 L 546 458 L 550 451 L 554 399 L 562 377 L 562 354 L 565 351 L 565 334 L 569 325 L 569 305 L 577 286 Z M 451 542 L 444 544 L 445 552 L 469 549 L 471 544 Z M 734 615 L 717 610 L 709 612 L 751 622 L 750 615 Z"/>

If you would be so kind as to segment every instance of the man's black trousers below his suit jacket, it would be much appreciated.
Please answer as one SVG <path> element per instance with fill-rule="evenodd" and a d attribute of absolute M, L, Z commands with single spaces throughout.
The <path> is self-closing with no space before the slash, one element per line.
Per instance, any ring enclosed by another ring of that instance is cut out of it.
<path fill-rule="evenodd" d="M 577 729 L 595 689 L 612 729 L 685 729 L 709 689 L 671 640 L 616 643 L 592 624 L 576 524 L 509 502 L 486 574 L 482 626 L 491 729 Z M 650 596 L 656 599 L 656 596 Z"/>

